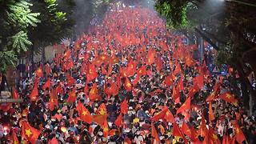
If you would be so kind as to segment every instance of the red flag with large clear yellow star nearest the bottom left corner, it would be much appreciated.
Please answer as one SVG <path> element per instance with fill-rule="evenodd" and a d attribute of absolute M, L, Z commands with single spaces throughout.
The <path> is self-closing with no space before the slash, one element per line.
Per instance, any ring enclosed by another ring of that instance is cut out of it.
<path fill-rule="evenodd" d="M 40 135 L 40 131 L 30 126 L 28 122 L 22 122 L 22 138 L 32 142 L 34 144 Z"/>

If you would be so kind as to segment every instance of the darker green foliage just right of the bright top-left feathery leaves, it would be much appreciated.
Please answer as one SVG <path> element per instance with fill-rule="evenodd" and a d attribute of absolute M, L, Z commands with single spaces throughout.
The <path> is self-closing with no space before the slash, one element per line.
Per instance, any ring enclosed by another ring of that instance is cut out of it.
<path fill-rule="evenodd" d="M 34 11 L 41 15 L 42 21 L 34 30 L 30 30 L 30 38 L 36 47 L 43 47 L 60 42 L 72 34 L 74 22 L 67 18 L 67 14 L 60 10 L 56 0 L 34 0 Z"/>

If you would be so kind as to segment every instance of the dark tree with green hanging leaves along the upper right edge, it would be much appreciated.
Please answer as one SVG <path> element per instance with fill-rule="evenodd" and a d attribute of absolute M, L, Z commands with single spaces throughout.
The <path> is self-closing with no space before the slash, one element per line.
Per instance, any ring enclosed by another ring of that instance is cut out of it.
<path fill-rule="evenodd" d="M 155 1 L 155 9 L 166 17 L 168 28 L 185 33 L 187 31 L 198 33 L 218 50 L 217 64 L 230 64 L 238 70 L 242 82 L 246 85 L 246 90 L 242 94 L 244 104 L 250 108 L 250 114 L 252 114 L 256 92 L 247 76 L 252 71 L 254 74 L 256 72 L 253 56 L 256 51 L 254 26 L 256 2 L 249 0 L 239 2 Z"/>

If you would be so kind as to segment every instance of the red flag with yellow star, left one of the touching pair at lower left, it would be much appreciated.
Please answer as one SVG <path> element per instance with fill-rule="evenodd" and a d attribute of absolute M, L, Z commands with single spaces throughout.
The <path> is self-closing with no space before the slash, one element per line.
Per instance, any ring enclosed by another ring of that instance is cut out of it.
<path fill-rule="evenodd" d="M 77 111 L 82 121 L 87 122 L 89 124 L 93 121 L 93 118 L 90 115 L 90 111 L 87 110 L 86 107 L 83 106 L 83 104 L 80 101 L 78 101 Z"/>

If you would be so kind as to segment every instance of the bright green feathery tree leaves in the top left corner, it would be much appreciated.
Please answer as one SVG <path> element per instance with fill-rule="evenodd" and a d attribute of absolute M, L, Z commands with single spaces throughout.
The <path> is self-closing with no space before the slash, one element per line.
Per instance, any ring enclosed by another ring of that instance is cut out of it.
<path fill-rule="evenodd" d="M 8 66 L 14 66 L 18 55 L 32 45 L 27 32 L 37 26 L 39 13 L 30 10 L 32 4 L 21 1 L 0 1 L 0 71 L 5 74 Z"/>

